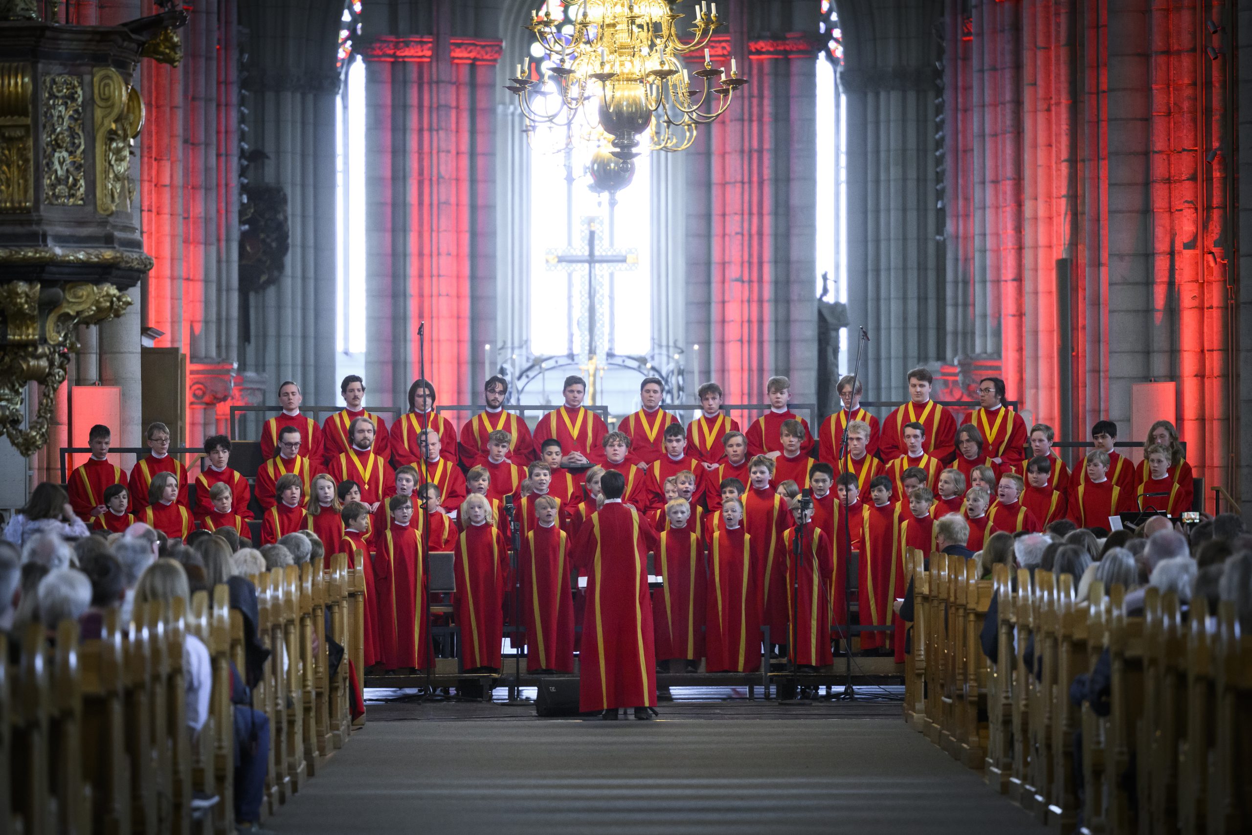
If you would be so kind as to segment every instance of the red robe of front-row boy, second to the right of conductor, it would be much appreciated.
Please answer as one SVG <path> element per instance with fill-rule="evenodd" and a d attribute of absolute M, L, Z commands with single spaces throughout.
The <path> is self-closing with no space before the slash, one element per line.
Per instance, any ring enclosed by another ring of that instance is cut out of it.
<path fill-rule="evenodd" d="M 761 592 L 752 537 L 742 526 L 710 541 L 705 592 L 705 672 L 752 672 L 761 666 Z M 786 636 L 771 635 L 771 641 Z"/>

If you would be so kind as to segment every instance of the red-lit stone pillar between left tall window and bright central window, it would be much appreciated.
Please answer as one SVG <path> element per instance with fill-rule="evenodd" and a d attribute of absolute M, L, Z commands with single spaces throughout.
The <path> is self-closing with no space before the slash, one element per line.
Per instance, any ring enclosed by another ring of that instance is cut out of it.
<path fill-rule="evenodd" d="M 447 23 L 447 28 L 439 21 Z M 369 40 L 366 96 L 366 372 L 383 404 L 406 406 L 424 367 L 443 403 L 481 391 L 478 367 L 496 325 L 495 179 L 498 40 L 434 35 Z"/>

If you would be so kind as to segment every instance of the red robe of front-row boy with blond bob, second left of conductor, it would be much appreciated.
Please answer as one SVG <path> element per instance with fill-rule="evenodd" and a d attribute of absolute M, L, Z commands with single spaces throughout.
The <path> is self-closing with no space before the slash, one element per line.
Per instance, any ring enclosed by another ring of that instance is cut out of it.
<path fill-rule="evenodd" d="M 461 628 L 461 666 L 500 669 L 505 640 L 508 546 L 495 525 L 467 525 L 453 551 L 457 591 L 452 610 Z"/>

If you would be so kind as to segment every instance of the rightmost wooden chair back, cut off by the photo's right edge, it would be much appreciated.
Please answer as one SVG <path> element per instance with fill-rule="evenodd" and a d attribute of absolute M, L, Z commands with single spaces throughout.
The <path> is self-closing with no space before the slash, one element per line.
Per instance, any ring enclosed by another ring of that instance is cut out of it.
<path fill-rule="evenodd" d="M 1252 636 L 1239 633 L 1234 603 L 1217 608 L 1216 744 L 1208 771 L 1208 831 L 1252 826 Z"/>

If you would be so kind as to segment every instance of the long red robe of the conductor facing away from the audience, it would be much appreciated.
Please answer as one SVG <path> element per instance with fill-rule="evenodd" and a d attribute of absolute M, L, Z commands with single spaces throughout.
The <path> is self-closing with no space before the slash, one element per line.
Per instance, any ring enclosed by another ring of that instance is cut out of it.
<path fill-rule="evenodd" d="M 647 553 L 659 542 L 640 513 L 607 502 L 578 531 L 573 562 L 587 576 L 578 709 L 656 706 Z"/>

